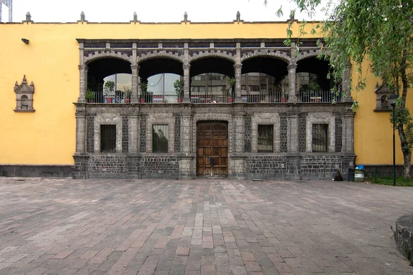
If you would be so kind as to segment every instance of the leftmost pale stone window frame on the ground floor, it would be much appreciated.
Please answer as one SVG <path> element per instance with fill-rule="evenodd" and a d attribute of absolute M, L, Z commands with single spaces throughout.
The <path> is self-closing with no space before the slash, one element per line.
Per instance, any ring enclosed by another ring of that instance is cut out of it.
<path fill-rule="evenodd" d="M 116 153 L 122 152 L 122 117 L 114 113 L 98 113 L 94 118 L 94 153 L 100 151 L 100 125 L 116 125 Z M 110 154 L 110 153 L 102 153 Z"/>

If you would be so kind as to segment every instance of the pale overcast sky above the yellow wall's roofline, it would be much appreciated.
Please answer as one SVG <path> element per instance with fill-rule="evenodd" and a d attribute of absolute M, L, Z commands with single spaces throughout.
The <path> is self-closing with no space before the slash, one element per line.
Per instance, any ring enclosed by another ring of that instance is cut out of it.
<path fill-rule="evenodd" d="M 284 17 L 275 14 L 283 6 Z M 239 10 L 244 21 L 286 21 L 290 8 L 287 0 L 14 0 L 13 21 L 25 20 L 30 11 L 34 22 L 75 22 L 81 11 L 91 22 L 128 22 L 134 11 L 142 22 L 179 22 L 185 11 L 193 22 L 235 20 Z M 3 21 L 6 19 L 3 8 Z M 302 19 L 297 15 L 296 19 Z"/>

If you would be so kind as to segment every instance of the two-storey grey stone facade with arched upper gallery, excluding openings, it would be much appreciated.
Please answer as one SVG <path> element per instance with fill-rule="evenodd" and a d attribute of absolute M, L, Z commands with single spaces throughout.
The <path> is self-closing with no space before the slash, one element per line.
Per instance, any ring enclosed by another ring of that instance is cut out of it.
<path fill-rule="evenodd" d="M 224 157 L 220 159 L 228 169 L 226 174 L 232 178 L 331 179 L 337 170 L 346 176 L 348 168 L 354 166 L 354 113 L 350 111 L 350 93 L 346 100 L 333 105 L 329 102 L 297 102 L 297 62 L 319 54 L 313 44 L 301 47 L 302 52 L 296 58 L 294 43 L 291 48 L 286 48 L 279 41 L 268 39 L 216 42 L 78 39 L 78 42 L 81 63 L 80 95 L 75 103 L 75 178 L 193 179 L 197 177 L 198 162 L 209 161 L 198 158 L 196 129 L 201 122 L 226 124 L 227 140 L 222 147 Z M 119 43 L 125 49 L 111 50 Z M 220 48 L 215 49 L 218 46 Z M 117 58 L 131 64 L 131 103 L 85 102 L 87 65 L 99 58 Z M 182 103 L 139 102 L 140 63 L 151 58 L 169 58 L 182 63 Z M 233 72 L 228 72 L 235 76 L 233 103 L 189 103 L 191 63 L 203 58 L 221 58 L 226 64 L 233 63 Z M 290 83 L 287 102 L 247 103 L 242 100 L 243 63 L 253 58 L 275 58 L 285 63 Z M 116 125 L 114 153 L 100 151 L 100 127 L 103 124 Z M 164 137 L 168 140 L 168 148 L 165 153 L 153 152 L 152 148 L 152 127 L 158 124 L 167 126 L 168 133 Z M 257 131 L 261 124 L 272 125 L 273 153 L 260 153 L 257 149 Z M 328 150 L 325 153 L 313 152 L 313 124 L 328 125 Z"/>

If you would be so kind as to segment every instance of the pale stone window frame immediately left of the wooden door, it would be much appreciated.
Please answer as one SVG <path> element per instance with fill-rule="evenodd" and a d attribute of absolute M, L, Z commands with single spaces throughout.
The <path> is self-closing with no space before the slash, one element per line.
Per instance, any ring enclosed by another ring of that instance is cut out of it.
<path fill-rule="evenodd" d="M 172 113 L 151 113 L 147 116 L 146 153 L 153 153 L 152 129 L 153 125 L 168 125 L 168 153 L 174 153 L 175 119 Z M 162 154 L 162 153 L 156 153 Z M 164 153 L 166 154 L 166 153 Z"/>

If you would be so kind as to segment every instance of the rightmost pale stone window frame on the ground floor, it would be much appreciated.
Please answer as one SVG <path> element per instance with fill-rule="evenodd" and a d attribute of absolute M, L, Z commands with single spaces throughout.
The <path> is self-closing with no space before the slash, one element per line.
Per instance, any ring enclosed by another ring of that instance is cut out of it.
<path fill-rule="evenodd" d="M 313 124 L 328 124 L 327 153 L 335 153 L 335 115 L 332 113 L 308 113 L 306 124 L 306 152 L 308 153 L 313 153 Z"/>

